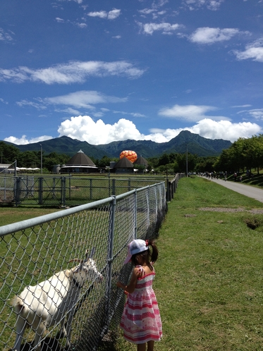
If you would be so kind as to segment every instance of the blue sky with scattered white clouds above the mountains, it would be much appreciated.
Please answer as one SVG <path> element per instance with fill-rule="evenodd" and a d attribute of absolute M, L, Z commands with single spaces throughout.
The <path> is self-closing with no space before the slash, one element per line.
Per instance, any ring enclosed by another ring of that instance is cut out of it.
<path fill-rule="evenodd" d="M 6 0 L 0 140 L 263 133 L 263 1 Z"/>

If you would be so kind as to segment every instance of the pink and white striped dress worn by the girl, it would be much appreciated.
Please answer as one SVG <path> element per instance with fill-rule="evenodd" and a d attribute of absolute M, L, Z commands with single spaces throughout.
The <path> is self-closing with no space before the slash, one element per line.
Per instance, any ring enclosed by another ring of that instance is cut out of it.
<path fill-rule="evenodd" d="M 141 269 L 144 271 L 142 267 Z M 153 270 L 138 278 L 135 290 L 128 294 L 120 326 L 123 337 L 130 343 L 143 344 L 149 340 L 161 340 L 161 316 L 152 289 L 154 276 Z"/>

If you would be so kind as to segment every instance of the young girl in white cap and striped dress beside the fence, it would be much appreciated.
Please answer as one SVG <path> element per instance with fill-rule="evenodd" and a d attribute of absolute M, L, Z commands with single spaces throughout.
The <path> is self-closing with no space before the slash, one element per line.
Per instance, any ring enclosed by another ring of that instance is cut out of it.
<path fill-rule="evenodd" d="M 149 251 L 152 247 L 152 253 Z M 133 240 L 128 245 L 128 256 L 124 264 L 132 261 L 135 268 L 129 285 L 118 281 L 118 288 L 128 293 L 121 328 L 130 343 L 137 344 L 137 351 L 153 351 L 154 341 L 161 340 L 161 317 L 157 299 L 152 289 L 155 271 L 152 264 L 158 258 L 158 250 L 152 240 Z"/>

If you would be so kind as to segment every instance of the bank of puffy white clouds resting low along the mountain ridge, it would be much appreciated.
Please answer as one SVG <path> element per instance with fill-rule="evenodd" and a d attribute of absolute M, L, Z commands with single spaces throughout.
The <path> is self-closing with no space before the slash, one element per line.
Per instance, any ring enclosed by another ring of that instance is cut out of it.
<path fill-rule="evenodd" d="M 262 133 L 262 128 L 256 123 L 243 122 L 232 123 L 231 121 L 214 121 L 204 118 L 192 127 L 187 128 L 151 128 L 149 134 L 140 133 L 136 125 L 128 119 L 121 118 L 116 123 L 109 124 L 99 119 L 94 121 L 90 116 L 75 116 L 63 121 L 59 125 L 59 136 L 66 135 L 73 139 L 86 141 L 90 144 L 109 144 L 109 142 L 119 140 L 152 140 L 154 142 L 169 142 L 176 137 L 182 130 L 189 130 L 191 133 L 198 134 L 207 139 L 224 139 L 234 142 L 239 137 L 252 137 Z M 7 137 L 6 141 L 14 144 L 28 144 L 48 140 L 51 137 L 42 136 L 28 140 L 23 137 Z"/>

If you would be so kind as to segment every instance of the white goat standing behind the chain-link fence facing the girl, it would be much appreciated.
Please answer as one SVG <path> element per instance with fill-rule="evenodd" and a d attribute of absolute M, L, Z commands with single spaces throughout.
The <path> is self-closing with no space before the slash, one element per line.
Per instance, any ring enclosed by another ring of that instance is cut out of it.
<path fill-rule="evenodd" d="M 13 350 L 20 351 L 23 334 L 27 326 L 35 331 L 34 347 L 41 350 L 41 339 L 46 328 L 61 321 L 61 331 L 66 336 L 66 347 L 71 345 L 71 322 L 75 312 L 75 304 L 80 295 L 80 288 L 86 281 L 102 281 L 102 274 L 92 258 L 73 269 L 60 271 L 47 281 L 35 286 L 27 286 L 19 296 L 13 298 L 13 306 L 18 314 L 16 321 L 16 342 Z M 68 312 L 68 321 L 65 328 L 65 314 Z"/>

